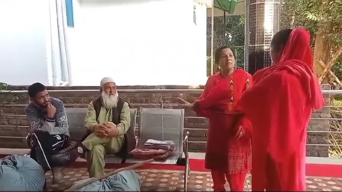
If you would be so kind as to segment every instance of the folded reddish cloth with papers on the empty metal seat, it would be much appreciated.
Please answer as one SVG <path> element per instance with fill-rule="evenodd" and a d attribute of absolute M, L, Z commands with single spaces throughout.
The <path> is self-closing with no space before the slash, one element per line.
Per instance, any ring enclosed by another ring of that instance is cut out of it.
<path fill-rule="evenodd" d="M 165 160 L 176 149 L 173 141 L 148 139 L 143 147 L 133 149 L 130 156 L 136 159 Z"/>

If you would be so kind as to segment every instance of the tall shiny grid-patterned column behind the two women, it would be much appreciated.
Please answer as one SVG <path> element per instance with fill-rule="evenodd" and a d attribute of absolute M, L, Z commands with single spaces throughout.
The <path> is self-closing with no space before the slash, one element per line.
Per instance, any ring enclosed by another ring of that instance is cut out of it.
<path fill-rule="evenodd" d="M 279 0 L 246 1 L 245 70 L 255 73 L 272 65 L 271 40 L 279 29 Z"/>

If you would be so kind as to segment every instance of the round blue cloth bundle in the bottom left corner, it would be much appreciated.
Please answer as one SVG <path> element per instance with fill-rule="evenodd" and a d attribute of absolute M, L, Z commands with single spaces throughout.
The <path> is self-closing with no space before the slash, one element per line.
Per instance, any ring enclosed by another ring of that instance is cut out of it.
<path fill-rule="evenodd" d="M 31 157 L 10 155 L 0 159 L 0 191 L 43 191 L 43 168 Z"/>

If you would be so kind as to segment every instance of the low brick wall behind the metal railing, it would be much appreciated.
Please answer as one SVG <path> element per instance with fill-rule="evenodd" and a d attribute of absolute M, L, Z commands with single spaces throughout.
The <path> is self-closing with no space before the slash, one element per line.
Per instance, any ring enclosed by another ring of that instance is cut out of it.
<path fill-rule="evenodd" d="M 60 90 L 58 92 L 50 92 L 50 95 L 55 98 L 61 99 L 66 107 L 87 107 L 89 102 L 100 96 L 98 91 L 72 91 L 72 90 L 96 90 L 99 87 L 96 86 L 77 86 L 77 87 L 48 87 L 48 90 Z M 123 89 L 201 89 L 203 86 L 174 86 L 174 85 L 157 85 L 157 86 L 118 86 L 119 90 Z M 329 86 L 323 86 L 323 89 L 329 89 Z M 9 90 L 27 90 L 27 86 L 15 86 L 10 87 Z M 69 91 L 63 91 L 69 90 Z M 120 97 L 124 98 L 131 104 L 131 108 L 139 109 L 145 108 L 159 108 L 159 106 L 134 106 L 134 104 L 160 104 L 161 94 L 150 93 L 119 93 Z M 177 94 L 177 93 L 163 93 L 162 101 L 163 105 L 176 105 L 176 97 L 182 97 L 190 102 L 198 99 L 200 94 Z M 28 103 L 27 93 L 0 93 L 0 99 L 2 104 L 6 105 L 23 105 L 23 106 L 1 106 L 0 108 L 0 136 L 12 136 L 19 138 L 1 138 L 0 147 L 9 148 L 26 148 L 26 143 L 23 138 L 28 132 L 28 121 L 24 115 L 25 105 Z M 329 99 L 327 99 L 327 105 L 329 105 Z M 71 106 L 70 106 L 71 105 Z M 83 105 L 83 106 L 76 106 Z M 178 106 L 165 106 L 164 108 L 179 108 Z M 323 109 L 313 114 L 313 117 L 328 117 L 329 108 Z M 3 116 L 12 115 L 12 116 Z M 16 115 L 16 116 L 13 116 Z M 193 111 L 186 110 L 185 116 L 196 116 Z M 329 116 L 330 117 L 330 116 Z M 137 118 L 139 122 L 139 117 Z M 138 125 L 139 123 L 137 123 Z M 16 127 L 17 126 L 17 127 Z M 201 118 L 185 118 L 184 128 L 185 131 L 190 132 L 190 141 L 206 141 L 207 129 L 209 121 Z M 203 130 L 192 130 L 192 128 Z M 312 120 L 308 127 L 308 130 L 325 130 L 329 129 L 329 121 L 325 120 Z M 308 133 L 308 141 L 310 143 L 327 143 L 329 134 L 321 133 Z M 192 152 L 204 152 L 204 143 L 189 143 L 189 150 Z M 327 156 L 328 148 L 319 146 L 308 146 L 307 156 Z"/>

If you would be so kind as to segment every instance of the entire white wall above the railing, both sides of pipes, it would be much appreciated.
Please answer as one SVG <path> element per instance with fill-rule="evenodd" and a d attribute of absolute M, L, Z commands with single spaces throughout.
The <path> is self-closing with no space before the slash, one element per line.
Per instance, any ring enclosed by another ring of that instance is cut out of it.
<path fill-rule="evenodd" d="M 49 1 L 0 1 L 0 82 L 53 85 Z M 206 78 L 206 5 L 193 0 L 73 0 L 69 85 L 198 85 Z M 4 19 L 5 18 L 5 19 Z M 54 17 L 51 17 L 55 19 Z"/>

